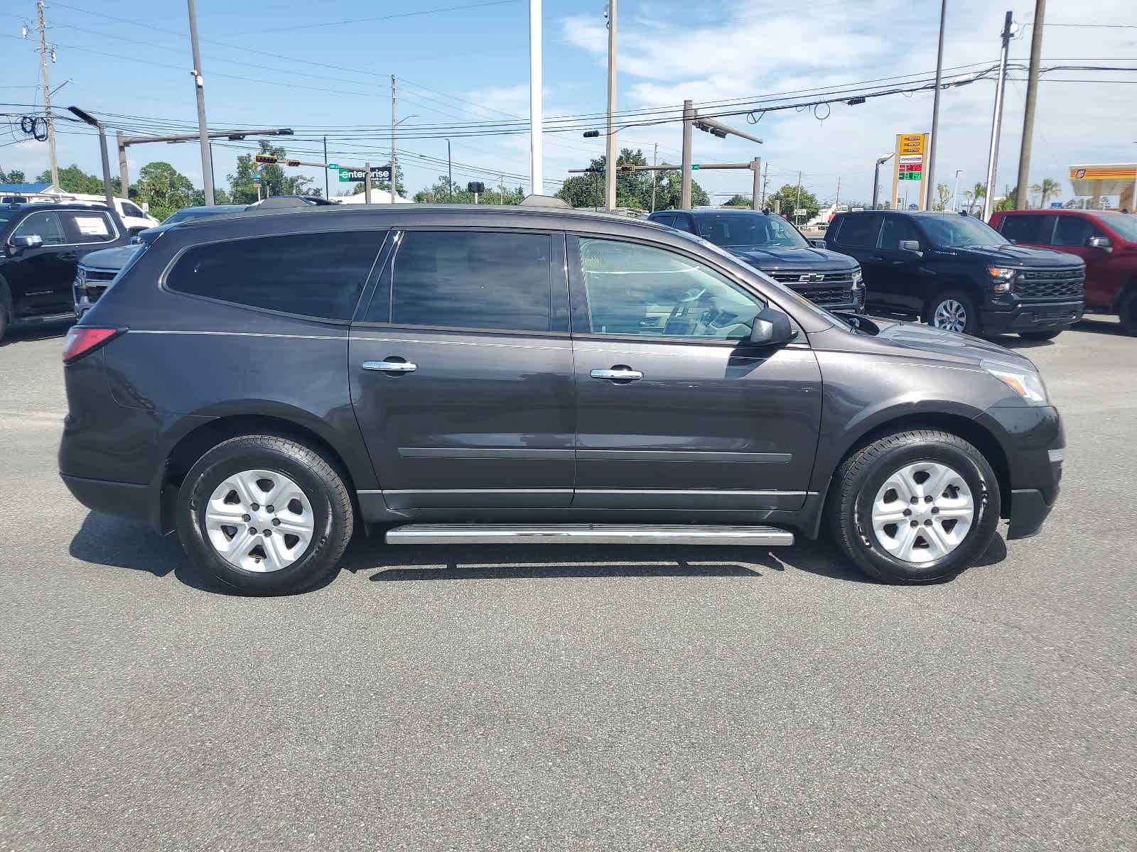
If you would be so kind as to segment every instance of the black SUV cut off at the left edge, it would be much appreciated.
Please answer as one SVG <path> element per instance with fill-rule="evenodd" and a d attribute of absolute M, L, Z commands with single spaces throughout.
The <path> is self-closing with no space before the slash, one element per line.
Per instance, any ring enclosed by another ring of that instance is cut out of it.
<path fill-rule="evenodd" d="M 0 207 L 0 339 L 14 325 L 73 318 L 80 259 L 128 239 L 106 204 Z"/>

